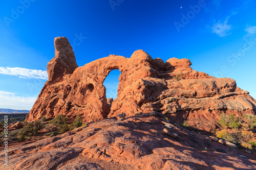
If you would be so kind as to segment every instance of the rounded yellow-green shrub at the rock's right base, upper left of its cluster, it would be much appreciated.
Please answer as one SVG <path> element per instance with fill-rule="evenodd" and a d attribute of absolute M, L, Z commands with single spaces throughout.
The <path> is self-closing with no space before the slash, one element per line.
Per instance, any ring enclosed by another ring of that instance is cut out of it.
<path fill-rule="evenodd" d="M 239 129 L 241 128 L 241 119 L 239 117 L 236 117 L 234 114 L 226 115 L 224 112 L 220 115 L 219 124 L 223 128 L 233 128 L 233 129 Z"/>

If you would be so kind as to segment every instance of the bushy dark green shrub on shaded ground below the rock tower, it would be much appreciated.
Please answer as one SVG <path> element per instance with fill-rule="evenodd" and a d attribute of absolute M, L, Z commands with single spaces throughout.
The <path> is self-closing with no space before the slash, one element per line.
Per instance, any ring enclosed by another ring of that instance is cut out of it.
<path fill-rule="evenodd" d="M 68 118 L 66 115 L 58 114 L 55 118 L 50 120 L 50 124 L 58 127 L 58 133 L 62 134 L 67 132 L 69 129 L 68 125 Z"/>

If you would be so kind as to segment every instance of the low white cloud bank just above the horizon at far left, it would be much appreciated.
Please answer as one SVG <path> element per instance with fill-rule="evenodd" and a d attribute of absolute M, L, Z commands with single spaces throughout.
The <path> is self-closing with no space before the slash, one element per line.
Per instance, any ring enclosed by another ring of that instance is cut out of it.
<path fill-rule="evenodd" d="M 37 96 L 17 96 L 17 93 L 0 91 L 0 108 L 30 110 Z"/>

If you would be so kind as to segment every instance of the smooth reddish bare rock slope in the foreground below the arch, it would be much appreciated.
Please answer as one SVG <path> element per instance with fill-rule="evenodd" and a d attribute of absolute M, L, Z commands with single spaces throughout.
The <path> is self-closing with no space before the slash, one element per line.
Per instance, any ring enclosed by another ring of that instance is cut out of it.
<path fill-rule="evenodd" d="M 169 134 L 177 134 L 175 139 Z M 8 149 L 9 169 L 256 169 L 255 154 L 228 148 L 161 116 L 103 119 L 79 132 Z M 203 151 L 207 147 L 207 151 Z M 227 154 L 216 152 L 225 150 Z M 0 151 L 3 157 L 4 150 Z M 241 155 L 241 156 L 240 156 Z M 242 157 L 243 156 L 243 157 Z M 246 158 L 246 159 L 245 159 Z M 4 168 L 0 164 L 0 168 Z"/>

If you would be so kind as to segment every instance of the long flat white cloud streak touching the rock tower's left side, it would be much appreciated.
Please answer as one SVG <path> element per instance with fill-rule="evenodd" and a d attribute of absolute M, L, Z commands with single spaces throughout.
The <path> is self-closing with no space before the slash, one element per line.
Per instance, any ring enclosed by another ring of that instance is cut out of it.
<path fill-rule="evenodd" d="M 19 76 L 23 79 L 44 79 L 48 80 L 47 71 L 20 68 L 20 67 L 0 67 L 0 74 Z"/>

